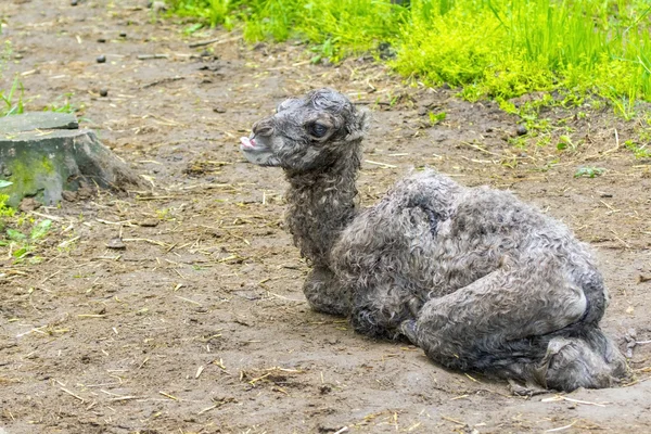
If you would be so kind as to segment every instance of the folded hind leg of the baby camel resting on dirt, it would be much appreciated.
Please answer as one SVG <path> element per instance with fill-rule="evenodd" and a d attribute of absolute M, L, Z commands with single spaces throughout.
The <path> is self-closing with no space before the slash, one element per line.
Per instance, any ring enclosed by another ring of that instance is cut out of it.
<path fill-rule="evenodd" d="M 553 259 L 529 264 L 430 299 L 404 333 L 450 368 L 565 391 L 616 382 L 623 374 L 617 349 L 596 327 L 579 330 L 589 309 L 583 290 Z"/>

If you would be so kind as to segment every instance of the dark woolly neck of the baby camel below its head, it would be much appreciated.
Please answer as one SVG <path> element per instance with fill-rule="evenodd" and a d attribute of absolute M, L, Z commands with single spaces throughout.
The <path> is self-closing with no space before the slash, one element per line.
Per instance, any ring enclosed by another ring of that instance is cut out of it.
<path fill-rule="evenodd" d="M 330 265 L 330 251 L 357 213 L 360 155 L 337 159 L 318 173 L 288 174 L 288 227 L 294 244 L 314 266 Z"/>

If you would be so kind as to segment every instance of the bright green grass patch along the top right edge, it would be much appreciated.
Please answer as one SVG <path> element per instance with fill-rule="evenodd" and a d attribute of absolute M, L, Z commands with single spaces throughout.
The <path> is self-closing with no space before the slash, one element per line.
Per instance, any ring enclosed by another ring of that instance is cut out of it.
<path fill-rule="evenodd" d="M 608 99 L 625 118 L 651 101 L 648 0 L 173 0 L 171 9 L 242 23 L 250 41 L 306 40 L 316 61 L 390 42 L 400 74 L 460 87 L 471 101 L 567 89 Z"/>

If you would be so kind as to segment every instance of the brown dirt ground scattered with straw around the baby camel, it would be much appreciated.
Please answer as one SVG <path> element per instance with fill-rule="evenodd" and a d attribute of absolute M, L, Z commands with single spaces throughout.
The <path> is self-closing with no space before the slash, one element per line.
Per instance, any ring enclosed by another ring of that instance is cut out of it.
<path fill-rule="evenodd" d="M 149 184 L 31 213 L 54 220 L 38 265 L 0 251 L 0 433 L 648 431 L 651 165 L 622 144 L 635 123 L 609 108 L 554 110 L 546 116 L 583 144 L 522 150 L 507 142 L 518 118 L 495 103 L 406 86 L 369 56 L 311 65 L 301 44 L 188 36 L 145 3 L 0 3 L 0 38 L 14 49 L 5 79 L 21 74 L 28 107 L 74 93 L 85 125 Z M 307 266 L 282 228 L 283 175 L 245 163 L 238 139 L 285 97 L 320 86 L 373 112 L 362 204 L 431 165 L 510 189 L 589 242 L 612 295 L 603 329 L 623 352 L 631 329 L 641 342 L 636 381 L 512 396 L 505 382 L 311 311 Z M 431 126 L 429 112 L 447 116 Z M 574 178 L 583 166 L 607 171 Z M 126 248 L 108 248 L 119 237 Z"/>

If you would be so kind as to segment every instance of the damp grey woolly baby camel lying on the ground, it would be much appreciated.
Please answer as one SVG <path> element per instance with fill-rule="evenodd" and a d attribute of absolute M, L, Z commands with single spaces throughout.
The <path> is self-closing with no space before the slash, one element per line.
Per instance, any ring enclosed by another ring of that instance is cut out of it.
<path fill-rule="evenodd" d="M 320 89 L 282 102 L 241 139 L 250 162 L 286 174 L 288 227 L 312 266 L 312 308 L 347 316 L 360 333 L 407 337 L 460 370 L 561 391 L 627 375 L 599 329 L 601 275 L 562 224 L 433 170 L 359 210 L 367 125 L 366 111 Z"/>

